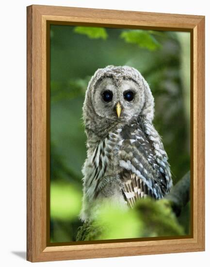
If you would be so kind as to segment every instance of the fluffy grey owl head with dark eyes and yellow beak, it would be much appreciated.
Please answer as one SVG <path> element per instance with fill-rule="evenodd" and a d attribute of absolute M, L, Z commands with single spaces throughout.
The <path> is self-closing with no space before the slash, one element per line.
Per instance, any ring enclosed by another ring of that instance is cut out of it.
<path fill-rule="evenodd" d="M 154 116 L 154 99 L 140 72 L 128 66 L 97 69 L 85 94 L 85 126 L 93 130 L 103 123 L 129 123 L 140 116 L 149 121 Z"/>

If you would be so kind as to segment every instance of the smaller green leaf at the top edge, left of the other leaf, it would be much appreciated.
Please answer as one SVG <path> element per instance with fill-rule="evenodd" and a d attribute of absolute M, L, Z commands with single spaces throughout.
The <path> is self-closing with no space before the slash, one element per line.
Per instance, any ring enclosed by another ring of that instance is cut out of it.
<path fill-rule="evenodd" d="M 99 27 L 75 27 L 74 28 L 75 33 L 85 34 L 90 39 L 106 39 L 108 37 L 108 34 L 104 28 Z"/>

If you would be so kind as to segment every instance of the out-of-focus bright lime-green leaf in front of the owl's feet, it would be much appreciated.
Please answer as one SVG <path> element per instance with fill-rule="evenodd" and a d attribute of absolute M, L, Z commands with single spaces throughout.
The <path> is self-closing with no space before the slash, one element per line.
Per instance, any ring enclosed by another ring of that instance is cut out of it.
<path fill-rule="evenodd" d="M 77 241 L 135 238 L 142 234 L 143 224 L 138 214 L 132 209 L 122 210 L 114 203 L 109 200 L 99 203 L 96 220 L 79 228 Z"/>

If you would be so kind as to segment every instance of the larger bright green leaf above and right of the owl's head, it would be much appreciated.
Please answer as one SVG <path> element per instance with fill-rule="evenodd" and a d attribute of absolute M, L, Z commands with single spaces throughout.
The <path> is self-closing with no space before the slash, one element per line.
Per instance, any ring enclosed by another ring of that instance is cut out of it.
<path fill-rule="evenodd" d="M 151 33 L 143 30 L 126 30 L 120 34 L 120 37 L 123 38 L 126 43 L 137 44 L 139 47 L 151 51 L 161 47 L 161 44 Z"/>

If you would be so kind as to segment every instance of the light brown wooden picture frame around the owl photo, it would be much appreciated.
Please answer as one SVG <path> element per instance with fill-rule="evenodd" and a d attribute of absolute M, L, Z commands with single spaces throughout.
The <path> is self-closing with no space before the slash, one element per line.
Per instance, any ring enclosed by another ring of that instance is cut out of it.
<path fill-rule="evenodd" d="M 191 197 L 187 238 L 52 246 L 49 235 L 50 22 L 191 33 Z M 205 17 L 58 6 L 27 7 L 27 260 L 31 262 L 205 250 Z"/>

